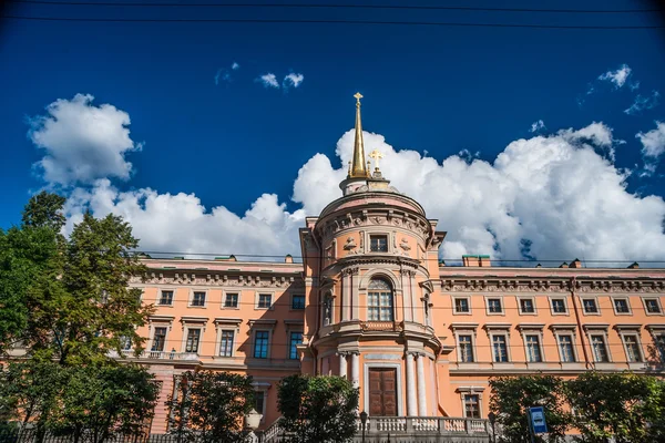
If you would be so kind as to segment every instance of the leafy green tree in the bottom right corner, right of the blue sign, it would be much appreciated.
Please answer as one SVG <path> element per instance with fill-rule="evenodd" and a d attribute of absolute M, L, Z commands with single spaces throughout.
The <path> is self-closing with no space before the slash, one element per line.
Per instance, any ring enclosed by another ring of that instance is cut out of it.
<path fill-rule="evenodd" d="M 632 373 L 585 372 L 567 382 L 574 424 L 585 442 L 665 440 L 663 381 Z"/>

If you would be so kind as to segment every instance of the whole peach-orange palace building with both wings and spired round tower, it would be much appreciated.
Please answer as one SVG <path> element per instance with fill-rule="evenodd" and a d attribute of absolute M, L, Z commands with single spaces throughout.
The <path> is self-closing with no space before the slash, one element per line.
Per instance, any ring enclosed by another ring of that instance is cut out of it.
<path fill-rule="evenodd" d="M 167 432 L 164 402 L 194 369 L 253 375 L 264 430 L 279 416 L 276 383 L 303 372 L 351 380 L 375 429 L 426 431 L 448 418 L 447 429 L 482 433 L 491 377 L 663 361 L 663 269 L 440 262 L 446 220 L 390 186 L 380 153 L 366 163 L 360 97 L 348 176 L 306 218 L 301 259 L 144 259 L 147 277 L 133 285 L 156 309 L 140 331 L 145 351 L 127 343 L 124 358 L 162 383 L 153 433 Z"/>

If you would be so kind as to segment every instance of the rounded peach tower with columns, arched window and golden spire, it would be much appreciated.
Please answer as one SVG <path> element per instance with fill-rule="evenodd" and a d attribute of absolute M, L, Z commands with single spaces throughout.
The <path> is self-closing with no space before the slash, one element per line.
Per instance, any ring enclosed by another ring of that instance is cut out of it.
<path fill-rule="evenodd" d="M 309 298 L 303 369 L 347 377 L 360 388 L 361 410 L 372 416 L 439 415 L 442 344 L 431 307 L 446 234 L 416 200 L 390 186 L 377 151 L 370 172 L 362 96 L 355 97 L 354 156 L 340 183 L 342 196 L 300 229 Z"/>

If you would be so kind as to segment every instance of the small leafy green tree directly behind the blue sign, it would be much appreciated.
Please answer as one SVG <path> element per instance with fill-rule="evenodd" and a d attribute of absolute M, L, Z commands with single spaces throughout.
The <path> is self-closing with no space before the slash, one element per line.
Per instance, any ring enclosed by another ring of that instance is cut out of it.
<path fill-rule="evenodd" d="M 570 427 L 571 416 L 564 410 L 564 383 L 553 375 L 500 377 L 490 380 L 490 410 L 501 425 L 502 442 L 529 443 L 526 411 L 541 405 L 545 411 L 549 434 L 536 442 L 561 442 Z"/>

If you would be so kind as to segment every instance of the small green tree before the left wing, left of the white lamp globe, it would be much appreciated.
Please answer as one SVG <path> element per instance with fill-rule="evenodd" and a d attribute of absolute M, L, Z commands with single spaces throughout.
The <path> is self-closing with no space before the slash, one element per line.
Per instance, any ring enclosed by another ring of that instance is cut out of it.
<path fill-rule="evenodd" d="M 171 408 L 173 433 L 181 441 L 239 443 L 244 418 L 254 404 L 252 377 L 231 372 L 185 372 Z"/>

